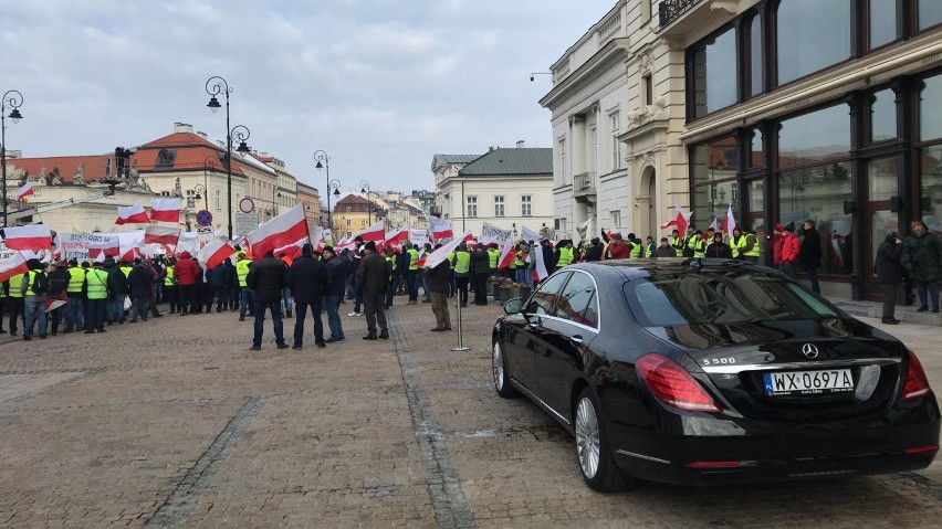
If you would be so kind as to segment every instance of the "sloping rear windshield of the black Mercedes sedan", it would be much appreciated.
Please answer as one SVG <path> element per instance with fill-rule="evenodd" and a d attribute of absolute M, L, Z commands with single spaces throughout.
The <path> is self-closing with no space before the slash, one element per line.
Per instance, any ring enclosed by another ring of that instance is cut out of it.
<path fill-rule="evenodd" d="M 626 283 L 625 296 L 646 327 L 837 316 L 815 294 L 778 275 L 755 271 L 655 274 Z"/>

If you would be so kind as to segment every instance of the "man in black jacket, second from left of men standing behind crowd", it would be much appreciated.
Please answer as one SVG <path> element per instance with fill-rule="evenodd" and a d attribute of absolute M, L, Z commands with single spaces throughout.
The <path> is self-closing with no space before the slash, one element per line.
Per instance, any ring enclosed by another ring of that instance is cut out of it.
<path fill-rule="evenodd" d="M 327 285 L 327 273 L 324 271 L 324 264 L 312 257 L 313 253 L 311 244 L 302 246 L 301 257 L 294 260 L 287 271 L 287 287 L 294 297 L 294 309 L 297 311 L 292 349 L 301 349 L 304 343 L 304 318 L 307 315 L 307 307 L 311 307 L 311 317 L 314 318 L 314 343 L 317 347 L 325 347 L 321 308 L 324 287 Z"/>

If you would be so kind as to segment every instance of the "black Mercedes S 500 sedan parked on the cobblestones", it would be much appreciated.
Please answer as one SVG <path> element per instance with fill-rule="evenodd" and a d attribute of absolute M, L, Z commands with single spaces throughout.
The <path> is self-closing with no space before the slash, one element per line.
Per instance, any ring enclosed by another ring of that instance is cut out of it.
<path fill-rule="evenodd" d="M 563 424 L 596 490 L 912 470 L 939 451 L 915 356 L 764 266 L 578 264 L 504 310 L 498 393 Z"/>

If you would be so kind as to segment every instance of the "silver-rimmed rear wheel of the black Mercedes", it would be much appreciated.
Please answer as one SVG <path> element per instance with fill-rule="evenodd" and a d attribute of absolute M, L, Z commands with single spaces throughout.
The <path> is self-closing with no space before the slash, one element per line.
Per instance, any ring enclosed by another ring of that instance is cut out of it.
<path fill-rule="evenodd" d="M 598 404 L 588 388 L 576 402 L 576 456 L 586 484 L 599 493 L 627 488 L 631 480 L 615 464 L 605 425 L 598 416 Z"/>

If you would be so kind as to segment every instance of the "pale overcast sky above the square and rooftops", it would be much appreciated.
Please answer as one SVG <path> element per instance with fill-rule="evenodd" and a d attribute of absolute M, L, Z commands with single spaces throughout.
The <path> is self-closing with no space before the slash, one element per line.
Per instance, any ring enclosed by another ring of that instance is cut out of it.
<path fill-rule="evenodd" d="M 2 0 L 0 92 L 25 99 L 7 148 L 104 154 L 175 121 L 224 139 L 224 113 L 206 107 L 221 75 L 232 125 L 299 180 L 324 189 L 323 149 L 344 191 L 433 189 L 436 154 L 552 147 L 550 78 L 530 73 L 615 2 Z"/>

